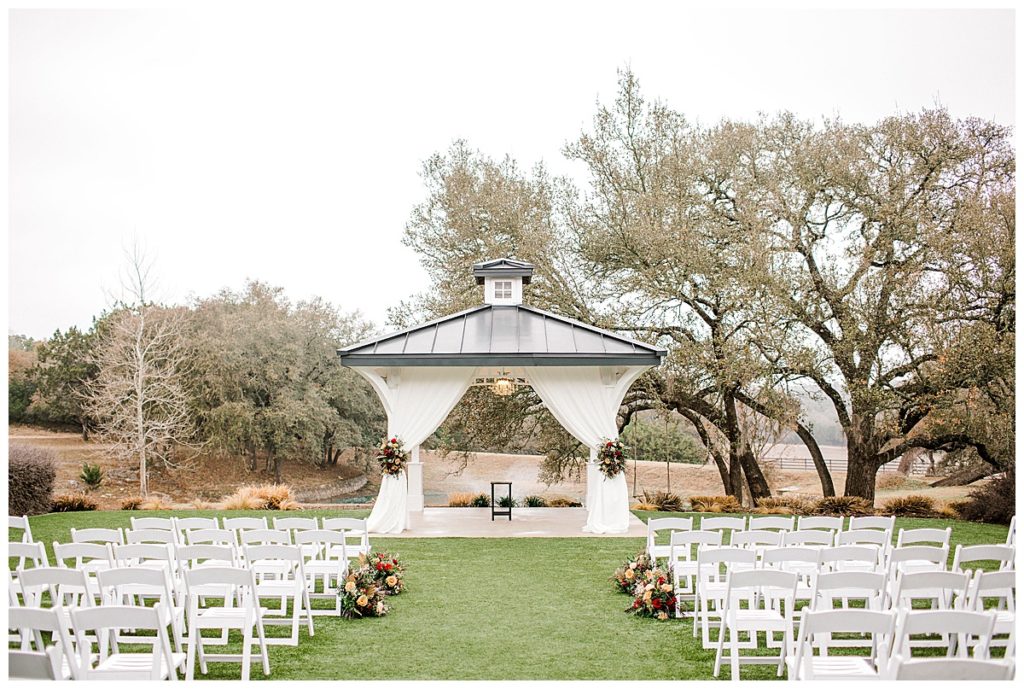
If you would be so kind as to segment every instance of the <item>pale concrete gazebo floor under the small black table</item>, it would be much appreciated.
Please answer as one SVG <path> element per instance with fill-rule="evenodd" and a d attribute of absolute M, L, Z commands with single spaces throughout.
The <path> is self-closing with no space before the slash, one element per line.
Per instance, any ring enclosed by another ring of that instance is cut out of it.
<path fill-rule="evenodd" d="M 564 539 L 577 536 L 629 537 L 647 535 L 647 526 L 630 513 L 626 533 L 585 533 L 587 510 L 582 507 L 513 508 L 512 520 L 495 517 L 490 508 L 428 507 L 413 513 L 410 527 L 400 534 L 379 534 L 380 539 Z"/>

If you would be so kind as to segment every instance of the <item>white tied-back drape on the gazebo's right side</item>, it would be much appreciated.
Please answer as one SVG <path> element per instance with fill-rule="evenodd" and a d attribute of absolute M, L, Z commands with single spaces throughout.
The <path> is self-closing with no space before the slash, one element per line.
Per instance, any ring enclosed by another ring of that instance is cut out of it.
<path fill-rule="evenodd" d="M 552 416 L 591 448 L 587 464 L 587 525 L 593 533 L 625 533 L 630 504 L 626 475 L 605 477 L 596 467 L 597 444 L 618 435 L 615 417 L 630 386 L 650 367 L 532 367 L 529 384 Z"/>

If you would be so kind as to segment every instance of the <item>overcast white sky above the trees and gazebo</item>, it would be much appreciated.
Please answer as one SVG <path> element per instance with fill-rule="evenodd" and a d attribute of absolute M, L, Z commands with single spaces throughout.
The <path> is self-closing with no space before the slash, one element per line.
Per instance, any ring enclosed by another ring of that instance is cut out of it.
<path fill-rule="evenodd" d="M 1015 119 L 1009 10 L 359 4 L 12 12 L 9 330 L 87 327 L 133 236 L 166 300 L 253 277 L 381 325 L 426 287 L 422 161 L 465 138 L 571 173 L 627 64 L 702 122 Z"/>

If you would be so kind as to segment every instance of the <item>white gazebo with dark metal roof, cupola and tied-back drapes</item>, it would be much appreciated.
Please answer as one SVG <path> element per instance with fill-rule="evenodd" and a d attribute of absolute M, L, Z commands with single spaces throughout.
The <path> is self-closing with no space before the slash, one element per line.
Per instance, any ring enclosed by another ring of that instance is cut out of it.
<path fill-rule="evenodd" d="M 625 533 L 626 477 L 596 468 L 602 438 L 617 436 L 627 390 L 666 350 L 526 306 L 534 266 L 502 258 L 477 263 L 481 306 L 338 350 L 342 364 L 367 379 L 387 413 L 388 437 L 410 449 L 407 475 L 385 476 L 370 530 L 399 533 L 423 510 L 420 443 L 444 421 L 471 385 L 509 394 L 529 385 L 558 422 L 590 447 L 585 531 Z"/>

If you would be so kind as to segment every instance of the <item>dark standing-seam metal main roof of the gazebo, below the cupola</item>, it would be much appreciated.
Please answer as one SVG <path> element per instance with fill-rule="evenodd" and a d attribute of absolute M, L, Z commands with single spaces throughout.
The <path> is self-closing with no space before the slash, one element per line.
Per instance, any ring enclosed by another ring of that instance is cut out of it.
<path fill-rule="evenodd" d="M 665 355 L 665 349 L 522 304 L 484 304 L 338 350 L 346 367 L 657 365 Z"/>

